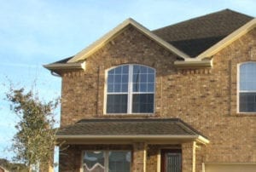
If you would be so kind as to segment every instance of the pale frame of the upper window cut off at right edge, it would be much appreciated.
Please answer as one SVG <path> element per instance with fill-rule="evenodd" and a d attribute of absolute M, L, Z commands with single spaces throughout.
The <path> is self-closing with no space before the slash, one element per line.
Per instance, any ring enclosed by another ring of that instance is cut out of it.
<path fill-rule="evenodd" d="M 253 91 L 248 91 L 248 90 L 240 90 L 240 68 L 241 65 L 245 65 L 245 64 L 249 64 L 249 63 L 254 63 L 256 64 L 256 61 L 246 61 L 246 62 L 242 62 L 237 64 L 237 77 L 236 77 L 236 112 L 237 113 L 247 113 L 247 114 L 253 114 L 256 112 L 240 112 L 240 93 L 256 93 L 256 90 Z"/>

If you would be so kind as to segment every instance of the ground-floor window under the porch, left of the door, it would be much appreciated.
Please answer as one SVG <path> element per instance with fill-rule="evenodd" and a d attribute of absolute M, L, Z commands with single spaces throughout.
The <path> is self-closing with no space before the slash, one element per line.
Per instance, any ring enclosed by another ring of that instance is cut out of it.
<path fill-rule="evenodd" d="M 85 151 L 84 172 L 130 172 L 131 152 L 129 151 Z"/>

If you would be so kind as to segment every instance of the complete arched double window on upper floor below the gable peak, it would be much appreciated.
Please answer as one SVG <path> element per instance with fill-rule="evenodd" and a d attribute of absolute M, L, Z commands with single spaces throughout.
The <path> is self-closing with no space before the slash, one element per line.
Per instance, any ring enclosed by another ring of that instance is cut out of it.
<path fill-rule="evenodd" d="M 107 113 L 153 113 L 155 70 L 142 65 L 108 71 Z"/>

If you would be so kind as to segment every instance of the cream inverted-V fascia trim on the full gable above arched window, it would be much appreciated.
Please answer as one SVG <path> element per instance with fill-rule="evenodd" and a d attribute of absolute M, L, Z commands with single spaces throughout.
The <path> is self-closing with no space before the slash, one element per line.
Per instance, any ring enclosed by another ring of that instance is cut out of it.
<path fill-rule="evenodd" d="M 94 52 L 96 52 L 97 49 L 102 48 L 103 45 L 111 41 L 116 35 L 119 34 L 119 32 L 123 31 L 125 27 L 128 25 L 136 27 L 140 32 L 143 32 L 143 34 L 145 34 L 146 36 L 154 40 L 156 43 L 159 43 L 166 49 L 169 49 L 172 53 L 177 54 L 179 57 L 183 58 L 184 60 L 190 58 L 188 54 L 184 54 L 182 51 L 176 49 L 170 43 L 167 43 L 162 38 L 156 36 L 153 32 L 150 32 L 146 27 L 137 23 L 137 21 L 129 18 L 124 22 L 122 22 L 121 24 L 119 24 L 119 26 L 116 26 L 115 28 L 113 28 L 112 31 L 108 32 L 106 35 L 98 39 L 95 43 L 92 43 L 87 48 L 81 50 L 72 59 L 68 60 L 67 63 L 86 59 L 88 56 L 90 56 L 90 54 L 93 54 Z"/>

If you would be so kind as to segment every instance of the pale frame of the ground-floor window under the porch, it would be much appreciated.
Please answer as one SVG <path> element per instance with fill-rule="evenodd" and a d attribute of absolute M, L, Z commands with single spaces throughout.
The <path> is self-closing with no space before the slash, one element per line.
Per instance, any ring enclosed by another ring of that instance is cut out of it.
<path fill-rule="evenodd" d="M 108 172 L 108 164 L 109 164 L 109 159 L 108 155 L 109 152 L 130 152 L 131 153 L 131 162 L 130 162 L 130 171 L 132 170 L 132 152 L 131 150 L 83 150 L 81 153 L 81 167 L 80 167 L 80 172 L 84 172 L 84 153 L 85 152 L 103 152 L 104 156 L 104 164 L 106 165 L 106 169 L 104 172 Z"/>

